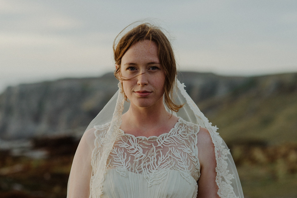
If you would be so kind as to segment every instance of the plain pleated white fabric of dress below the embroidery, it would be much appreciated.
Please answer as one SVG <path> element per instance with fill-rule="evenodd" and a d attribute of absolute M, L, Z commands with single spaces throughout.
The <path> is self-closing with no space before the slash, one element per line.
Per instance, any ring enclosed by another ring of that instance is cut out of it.
<path fill-rule="evenodd" d="M 103 182 L 102 198 L 192 198 L 195 195 L 196 181 L 188 183 L 178 171 L 166 171 L 162 183 L 150 186 L 144 175 L 129 172 L 121 176 L 115 169 L 108 169 Z"/>

